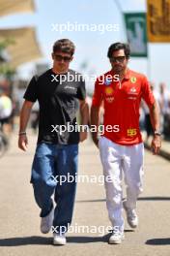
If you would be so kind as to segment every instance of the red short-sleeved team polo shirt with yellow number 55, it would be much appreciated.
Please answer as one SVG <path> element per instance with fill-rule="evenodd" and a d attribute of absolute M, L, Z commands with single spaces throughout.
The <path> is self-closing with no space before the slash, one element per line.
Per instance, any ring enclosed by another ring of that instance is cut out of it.
<path fill-rule="evenodd" d="M 110 77 L 112 77 L 112 80 L 110 80 Z M 99 107 L 103 102 L 103 136 L 116 144 L 140 144 L 142 142 L 139 129 L 141 99 L 144 99 L 149 108 L 155 103 L 149 81 L 144 75 L 131 70 L 127 71 L 124 80 L 121 82 L 115 81 L 113 78 L 113 72 L 109 71 L 99 77 L 95 84 L 92 105 Z M 119 126 L 119 131 L 112 130 L 110 132 L 109 128 L 106 131 L 108 125 L 112 127 Z"/>

